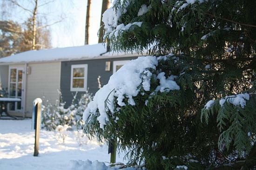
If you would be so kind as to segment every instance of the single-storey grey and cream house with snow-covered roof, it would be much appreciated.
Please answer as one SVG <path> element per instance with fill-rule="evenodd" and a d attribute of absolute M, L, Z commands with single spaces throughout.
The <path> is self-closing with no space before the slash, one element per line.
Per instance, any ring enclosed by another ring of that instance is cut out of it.
<path fill-rule="evenodd" d="M 33 101 L 43 96 L 54 104 L 61 89 L 67 106 L 75 92 L 98 90 L 98 76 L 102 85 L 123 64 L 137 58 L 136 54 L 107 52 L 102 44 L 48 50 L 30 50 L 0 58 L 0 86 L 7 88 L 9 97 L 20 102 L 9 104 L 8 113 L 31 117 Z"/>

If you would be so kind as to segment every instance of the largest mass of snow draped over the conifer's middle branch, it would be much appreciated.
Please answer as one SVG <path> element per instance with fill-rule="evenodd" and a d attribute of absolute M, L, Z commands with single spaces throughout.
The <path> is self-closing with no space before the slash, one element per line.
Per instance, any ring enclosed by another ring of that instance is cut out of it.
<path fill-rule="evenodd" d="M 95 94 L 93 101 L 88 104 L 83 113 L 83 120 L 86 121 L 90 118 L 90 115 L 99 113 L 97 120 L 100 127 L 104 129 L 108 121 L 107 112 L 115 112 L 114 98 L 116 97 L 117 104 L 120 107 L 126 105 L 123 101 L 125 97 L 128 98 L 128 104 L 134 106 L 133 97 L 139 94 L 141 88 L 144 91 L 150 90 L 152 73 L 149 70 L 155 70 L 157 65 L 157 58 L 152 56 L 138 57 L 126 63 L 110 77 L 108 84 Z M 180 89 L 174 81 L 174 76 L 166 78 L 164 75 L 165 73 L 162 72 L 156 76 L 160 80 L 160 85 L 155 89 L 155 92 L 169 92 L 170 90 Z M 108 99 L 108 102 L 105 102 L 106 99 Z"/>

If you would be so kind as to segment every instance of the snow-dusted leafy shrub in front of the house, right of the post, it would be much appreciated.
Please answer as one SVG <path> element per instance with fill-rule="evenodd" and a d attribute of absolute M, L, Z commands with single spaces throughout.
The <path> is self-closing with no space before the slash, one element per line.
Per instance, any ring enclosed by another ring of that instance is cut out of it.
<path fill-rule="evenodd" d="M 77 99 L 77 93 L 75 93 L 71 105 L 65 108 L 65 102 L 62 100 L 62 94 L 59 91 L 60 100 L 56 100 L 52 105 L 48 100 L 43 100 L 42 106 L 42 128 L 53 131 L 57 126 L 68 125 L 73 129 L 81 129 L 84 125 L 81 120 L 82 114 L 87 107 L 89 101 L 92 100 L 92 94 L 86 91 L 81 95 L 80 99 Z"/>

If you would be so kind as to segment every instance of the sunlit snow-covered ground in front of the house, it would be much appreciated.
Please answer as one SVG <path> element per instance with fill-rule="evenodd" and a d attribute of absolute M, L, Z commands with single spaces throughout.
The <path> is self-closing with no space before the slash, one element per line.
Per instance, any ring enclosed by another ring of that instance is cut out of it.
<path fill-rule="evenodd" d="M 77 132 L 68 132 L 62 143 L 58 134 L 41 130 L 40 155 L 34 157 L 31 119 L 0 120 L 0 170 L 69 170 L 70 160 L 109 162 L 107 145 L 79 138 Z M 116 161 L 123 162 L 123 155 Z"/>

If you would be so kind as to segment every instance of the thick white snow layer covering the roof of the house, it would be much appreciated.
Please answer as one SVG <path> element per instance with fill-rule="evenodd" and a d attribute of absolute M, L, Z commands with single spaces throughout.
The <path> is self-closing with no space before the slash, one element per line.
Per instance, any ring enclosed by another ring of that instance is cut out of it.
<path fill-rule="evenodd" d="M 0 58 L 0 63 L 32 63 L 58 60 L 74 60 L 99 57 L 107 49 L 103 44 L 83 45 L 66 48 L 30 50 Z"/>

